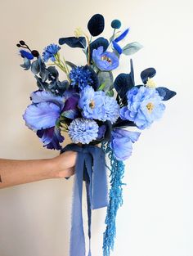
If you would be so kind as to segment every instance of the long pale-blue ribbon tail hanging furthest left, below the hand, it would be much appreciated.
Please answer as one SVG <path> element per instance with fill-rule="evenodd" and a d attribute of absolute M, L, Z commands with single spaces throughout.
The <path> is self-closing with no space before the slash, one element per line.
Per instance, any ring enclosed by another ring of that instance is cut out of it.
<path fill-rule="evenodd" d="M 84 157 L 83 154 L 79 153 L 75 165 L 74 198 L 70 233 L 70 256 L 85 255 L 85 238 L 82 213 L 83 167 Z"/>

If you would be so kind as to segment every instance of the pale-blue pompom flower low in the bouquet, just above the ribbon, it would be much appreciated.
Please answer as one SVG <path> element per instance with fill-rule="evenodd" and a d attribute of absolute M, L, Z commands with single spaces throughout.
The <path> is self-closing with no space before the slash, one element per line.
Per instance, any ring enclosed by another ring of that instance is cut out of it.
<path fill-rule="evenodd" d="M 98 136 L 98 128 L 94 120 L 74 119 L 69 127 L 69 136 L 74 143 L 88 144 Z"/>

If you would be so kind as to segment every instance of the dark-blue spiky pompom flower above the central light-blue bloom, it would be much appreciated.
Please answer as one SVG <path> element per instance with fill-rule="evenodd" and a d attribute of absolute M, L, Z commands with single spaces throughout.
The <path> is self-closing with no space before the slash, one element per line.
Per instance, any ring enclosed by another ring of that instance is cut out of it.
<path fill-rule="evenodd" d="M 92 84 L 92 73 L 86 66 L 78 66 L 70 71 L 70 80 L 73 87 L 78 86 L 81 90 L 88 84 Z"/>

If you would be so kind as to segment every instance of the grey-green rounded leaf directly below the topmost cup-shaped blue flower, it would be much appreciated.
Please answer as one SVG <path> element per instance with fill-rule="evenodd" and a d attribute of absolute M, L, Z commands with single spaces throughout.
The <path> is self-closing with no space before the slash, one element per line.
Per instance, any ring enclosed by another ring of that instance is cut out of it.
<path fill-rule="evenodd" d="M 97 76 L 98 76 L 99 84 L 105 83 L 105 87 L 103 88 L 104 92 L 108 92 L 112 88 L 114 88 L 113 74 L 111 71 L 109 72 L 99 71 Z"/>

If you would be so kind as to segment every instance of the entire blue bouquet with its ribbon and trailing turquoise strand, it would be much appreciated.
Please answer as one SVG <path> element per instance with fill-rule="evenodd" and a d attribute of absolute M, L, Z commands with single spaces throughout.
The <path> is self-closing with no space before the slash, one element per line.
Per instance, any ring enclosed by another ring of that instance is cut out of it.
<path fill-rule="evenodd" d="M 88 21 L 89 34 L 78 28 L 73 37 L 60 38 L 58 44 L 45 47 L 42 55 L 20 40 L 20 56 L 24 70 L 31 70 L 38 90 L 31 93 L 31 104 L 25 110 L 25 124 L 36 132 L 47 149 L 78 152 L 75 166 L 70 256 L 85 255 L 82 191 L 87 190 L 88 236 L 91 240 L 92 209 L 107 206 L 106 229 L 103 235 L 103 255 L 114 248 L 115 218 L 123 204 L 124 164 L 132 154 L 132 144 L 139 130 L 149 128 L 164 113 L 164 101 L 175 96 L 165 87 L 156 87 L 152 78 L 156 71 L 141 72 L 142 83 L 136 85 L 132 60 L 128 74 L 115 79 L 113 70 L 119 67 L 122 55 L 131 56 L 141 49 L 137 42 L 127 43 L 129 29 L 121 30 L 121 22 L 113 20 L 109 39 L 98 37 L 105 28 L 100 14 Z M 97 38 L 96 38 L 97 37 Z M 78 47 L 86 56 L 81 66 L 65 60 L 62 45 Z M 60 69 L 65 79 L 59 79 Z M 136 127 L 138 131 L 126 128 Z M 62 148 L 68 132 L 73 143 Z M 105 164 L 105 154 L 110 166 Z M 106 168 L 110 170 L 110 191 L 107 189 Z M 109 195 L 109 198 L 108 198 Z M 91 256 L 91 243 L 88 255 Z"/>

